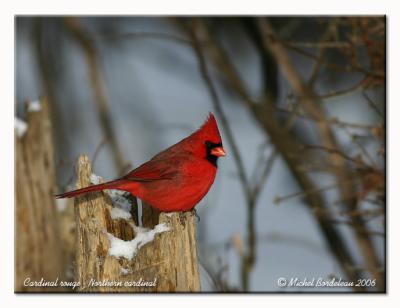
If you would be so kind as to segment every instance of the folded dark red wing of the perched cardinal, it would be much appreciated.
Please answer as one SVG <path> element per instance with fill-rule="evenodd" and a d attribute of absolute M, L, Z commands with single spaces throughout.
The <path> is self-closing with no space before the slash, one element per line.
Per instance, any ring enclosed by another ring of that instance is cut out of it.
<path fill-rule="evenodd" d="M 171 159 L 152 159 L 147 163 L 132 170 L 122 179 L 137 181 L 137 182 L 151 182 L 157 180 L 172 179 L 178 173 L 176 162 Z"/>

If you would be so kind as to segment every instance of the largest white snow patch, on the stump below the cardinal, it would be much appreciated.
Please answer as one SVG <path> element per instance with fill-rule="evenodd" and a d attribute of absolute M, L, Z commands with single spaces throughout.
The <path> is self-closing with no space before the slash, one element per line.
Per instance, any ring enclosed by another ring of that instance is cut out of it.
<path fill-rule="evenodd" d="M 170 230 L 170 227 L 168 227 L 165 223 L 156 225 L 154 229 L 141 228 L 135 226 L 134 224 L 131 225 L 136 233 L 135 238 L 131 241 L 124 241 L 110 233 L 107 233 L 111 245 L 108 251 L 110 256 L 114 256 L 116 258 L 123 257 L 128 260 L 132 260 L 140 248 L 154 240 L 154 236 L 157 233 L 167 232 Z"/>

